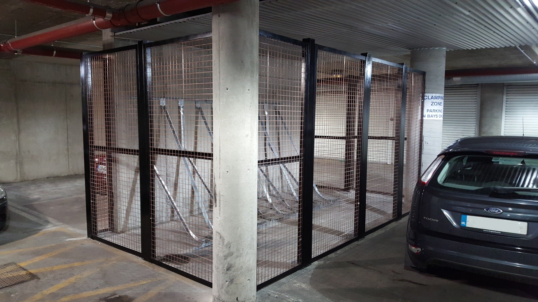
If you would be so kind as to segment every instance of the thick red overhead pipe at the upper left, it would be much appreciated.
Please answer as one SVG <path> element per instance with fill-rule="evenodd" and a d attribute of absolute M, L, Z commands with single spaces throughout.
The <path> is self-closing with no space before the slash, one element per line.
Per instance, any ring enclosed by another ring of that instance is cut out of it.
<path fill-rule="evenodd" d="M 76 37 L 112 27 L 143 23 L 162 16 L 180 12 L 203 9 L 218 4 L 231 3 L 236 0 L 144 0 L 129 4 L 121 10 L 112 12 L 110 20 L 98 17 L 86 17 L 65 24 L 56 25 L 45 30 L 11 38 L 0 44 L 2 52 L 17 52 L 20 49 Z M 66 1 L 56 1 L 58 6 Z"/>

